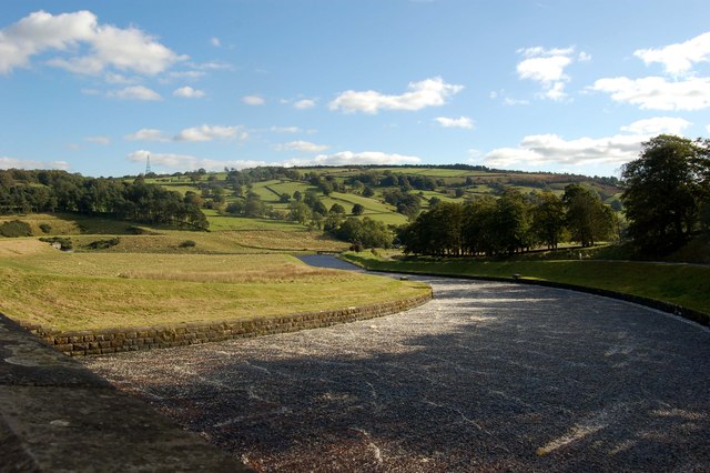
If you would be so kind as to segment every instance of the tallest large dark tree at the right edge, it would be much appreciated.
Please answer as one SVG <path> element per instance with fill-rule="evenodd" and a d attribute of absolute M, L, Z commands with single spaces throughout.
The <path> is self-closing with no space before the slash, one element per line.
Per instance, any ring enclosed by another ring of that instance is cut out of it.
<path fill-rule="evenodd" d="M 646 252 L 669 252 L 698 229 L 710 201 L 710 142 L 658 135 L 623 165 L 621 177 L 629 235 Z"/>

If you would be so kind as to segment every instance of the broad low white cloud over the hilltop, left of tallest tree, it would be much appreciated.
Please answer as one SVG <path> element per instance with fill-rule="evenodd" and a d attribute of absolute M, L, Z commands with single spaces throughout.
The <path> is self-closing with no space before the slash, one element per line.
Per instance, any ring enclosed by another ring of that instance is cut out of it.
<path fill-rule="evenodd" d="M 518 148 L 499 148 L 485 157 L 487 165 L 496 168 L 622 164 L 638 158 L 642 134 L 616 134 L 608 138 L 565 140 L 557 134 L 525 137 Z"/>

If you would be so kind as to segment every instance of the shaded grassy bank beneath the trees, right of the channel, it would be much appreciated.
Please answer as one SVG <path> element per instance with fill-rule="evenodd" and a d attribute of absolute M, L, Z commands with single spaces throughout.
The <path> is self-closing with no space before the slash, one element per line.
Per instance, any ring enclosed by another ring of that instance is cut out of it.
<path fill-rule="evenodd" d="M 368 252 L 344 258 L 372 270 L 442 275 L 538 279 L 616 291 L 710 314 L 710 266 L 629 261 L 476 261 L 387 259 Z"/>

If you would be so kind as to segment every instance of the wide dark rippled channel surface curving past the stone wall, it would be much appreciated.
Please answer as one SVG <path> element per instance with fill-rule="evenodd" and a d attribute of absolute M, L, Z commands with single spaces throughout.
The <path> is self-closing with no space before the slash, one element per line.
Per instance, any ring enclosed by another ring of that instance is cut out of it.
<path fill-rule="evenodd" d="M 424 280 L 396 315 L 85 364 L 263 471 L 710 471 L 710 331 Z"/>

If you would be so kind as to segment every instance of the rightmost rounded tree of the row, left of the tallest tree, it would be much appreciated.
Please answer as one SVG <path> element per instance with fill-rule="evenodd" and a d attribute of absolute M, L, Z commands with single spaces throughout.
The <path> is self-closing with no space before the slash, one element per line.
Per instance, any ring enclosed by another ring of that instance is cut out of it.
<path fill-rule="evenodd" d="M 574 241 L 592 246 L 595 241 L 609 238 L 615 228 L 613 211 L 599 195 L 579 184 L 569 184 L 562 195 L 565 221 Z"/>

